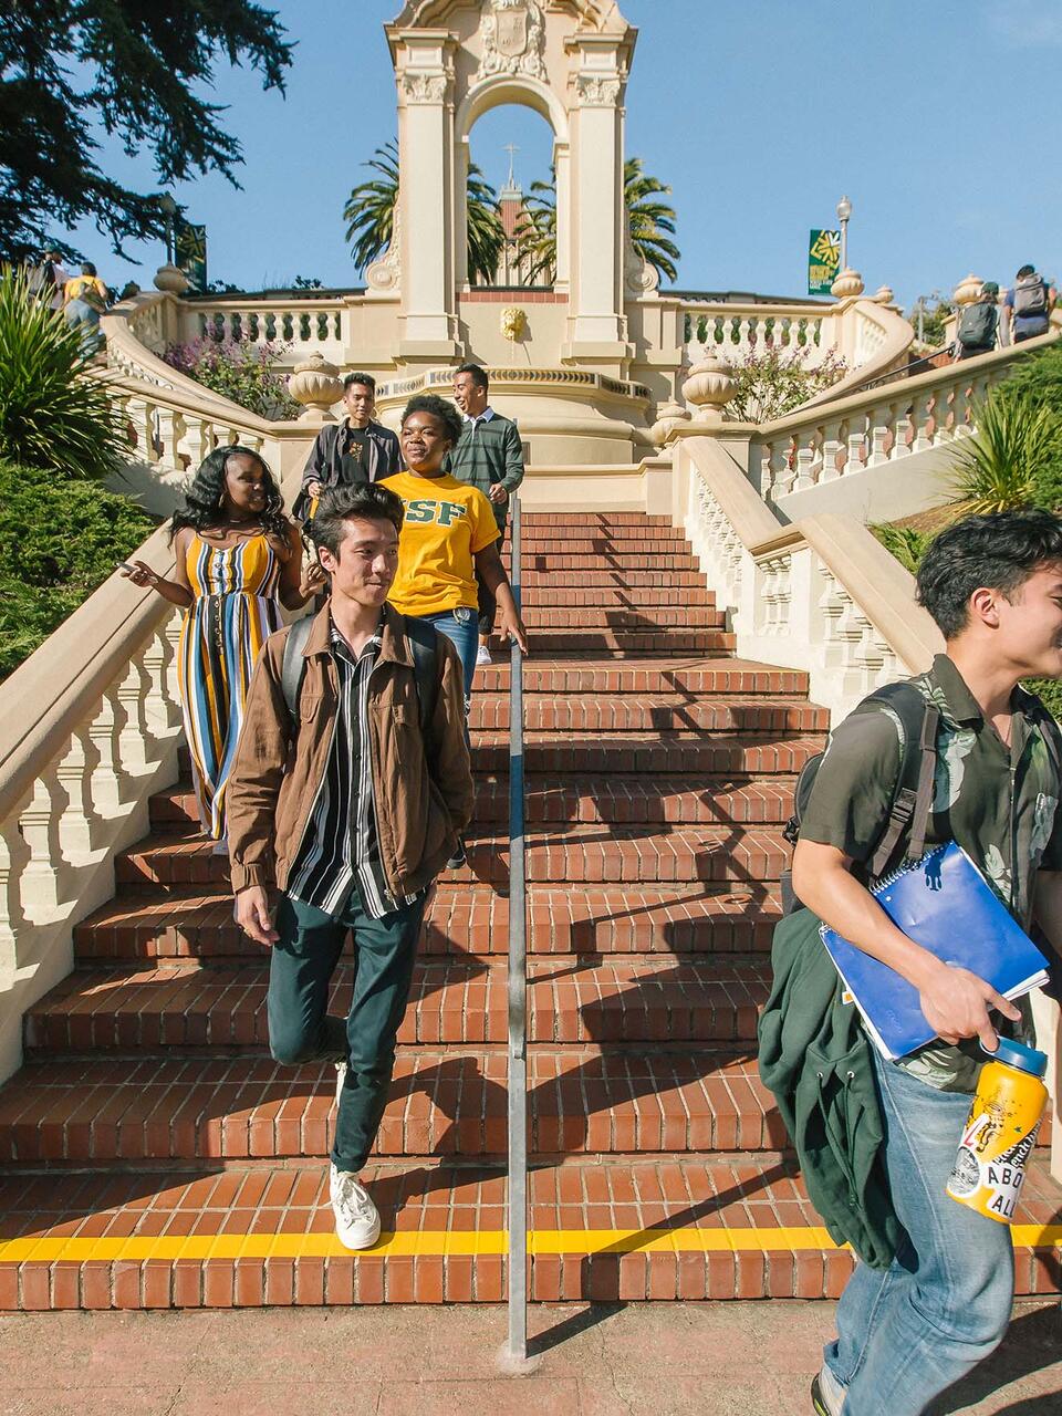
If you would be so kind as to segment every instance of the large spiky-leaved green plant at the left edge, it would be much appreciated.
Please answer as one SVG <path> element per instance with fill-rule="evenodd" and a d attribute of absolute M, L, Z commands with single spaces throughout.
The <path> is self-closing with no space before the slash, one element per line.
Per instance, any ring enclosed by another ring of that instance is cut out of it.
<path fill-rule="evenodd" d="M 119 467 L 123 430 L 81 340 L 23 270 L 0 268 L 0 459 L 61 477 Z"/>

